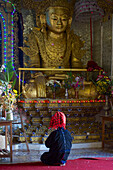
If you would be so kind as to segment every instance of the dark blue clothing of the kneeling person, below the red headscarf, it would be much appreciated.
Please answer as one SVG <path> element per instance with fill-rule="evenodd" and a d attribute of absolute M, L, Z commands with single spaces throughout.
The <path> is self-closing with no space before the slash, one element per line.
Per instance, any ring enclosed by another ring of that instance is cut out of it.
<path fill-rule="evenodd" d="M 43 163 L 65 163 L 72 147 L 71 134 L 63 127 L 58 128 L 49 135 L 45 141 L 45 145 L 49 148 L 49 152 L 45 152 L 41 156 Z"/>

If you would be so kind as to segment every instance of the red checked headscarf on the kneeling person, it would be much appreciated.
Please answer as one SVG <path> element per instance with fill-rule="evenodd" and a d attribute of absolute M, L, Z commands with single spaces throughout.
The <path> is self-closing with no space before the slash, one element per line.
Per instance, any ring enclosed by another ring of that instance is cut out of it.
<path fill-rule="evenodd" d="M 66 126 L 66 116 L 63 112 L 56 112 L 50 121 L 49 128 L 57 129 L 58 127 L 63 127 L 64 129 Z"/>

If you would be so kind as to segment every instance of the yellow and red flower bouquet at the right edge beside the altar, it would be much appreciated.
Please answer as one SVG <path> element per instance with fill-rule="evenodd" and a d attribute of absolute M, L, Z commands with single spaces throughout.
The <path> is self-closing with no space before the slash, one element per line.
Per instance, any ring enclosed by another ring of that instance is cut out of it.
<path fill-rule="evenodd" d="M 113 81 L 103 72 L 98 75 L 96 79 L 97 92 L 100 95 L 111 95 L 111 87 L 113 86 Z"/>

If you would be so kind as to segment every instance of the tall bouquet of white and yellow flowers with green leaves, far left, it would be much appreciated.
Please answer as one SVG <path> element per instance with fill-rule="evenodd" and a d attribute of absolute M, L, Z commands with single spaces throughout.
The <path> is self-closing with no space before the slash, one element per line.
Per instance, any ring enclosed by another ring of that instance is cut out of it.
<path fill-rule="evenodd" d="M 11 84 L 11 80 L 13 78 L 13 68 L 12 63 L 8 62 L 6 68 L 4 65 L 0 68 L 0 105 L 2 110 L 9 111 L 13 110 L 14 104 L 16 103 L 17 98 L 17 90 L 13 89 L 16 79 L 14 79 Z"/>

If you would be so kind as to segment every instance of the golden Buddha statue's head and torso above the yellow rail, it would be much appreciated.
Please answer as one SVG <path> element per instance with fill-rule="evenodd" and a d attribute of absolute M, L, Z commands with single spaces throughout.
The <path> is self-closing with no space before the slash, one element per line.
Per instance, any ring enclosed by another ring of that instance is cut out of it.
<path fill-rule="evenodd" d="M 85 50 L 81 48 L 84 42 L 70 29 L 73 13 L 70 6 L 67 0 L 50 0 L 47 9 L 40 15 L 40 28 L 34 27 L 26 47 L 20 47 L 30 57 L 30 67 L 83 67 L 81 58 Z M 36 78 L 36 74 L 34 77 Z"/>

